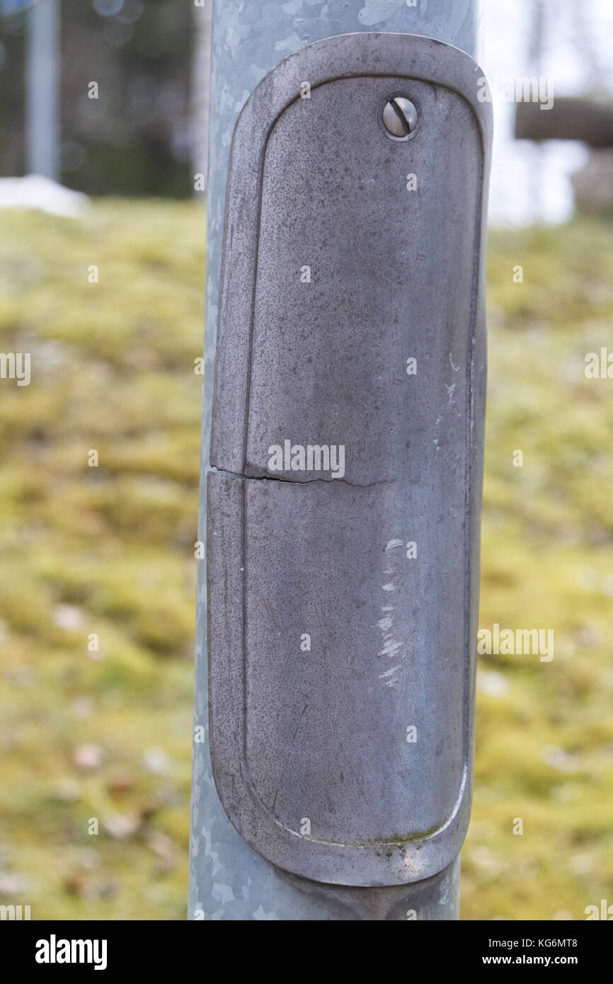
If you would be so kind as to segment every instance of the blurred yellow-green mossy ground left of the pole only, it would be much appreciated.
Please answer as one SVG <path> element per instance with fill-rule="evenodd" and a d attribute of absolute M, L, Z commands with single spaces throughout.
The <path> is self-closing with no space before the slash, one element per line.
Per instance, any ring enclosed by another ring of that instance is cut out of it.
<path fill-rule="evenodd" d="M 0 408 L 0 889 L 32 918 L 184 918 L 205 217 L 3 222 L 32 385 Z"/>

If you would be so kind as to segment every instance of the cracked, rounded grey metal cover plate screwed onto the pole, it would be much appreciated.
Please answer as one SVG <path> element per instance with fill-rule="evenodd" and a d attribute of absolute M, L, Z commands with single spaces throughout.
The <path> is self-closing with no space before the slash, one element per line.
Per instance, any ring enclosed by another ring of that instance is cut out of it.
<path fill-rule="evenodd" d="M 209 476 L 215 784 L 249 844 L 315 881 L 430 878 L 468 823 L 481 77 L 431 38 L 328 38 L 276 66 L 234 134 L 211 452 L 226 473 Z M 398 93 L 418 112 L 406 142 L 382 123 Z"/>

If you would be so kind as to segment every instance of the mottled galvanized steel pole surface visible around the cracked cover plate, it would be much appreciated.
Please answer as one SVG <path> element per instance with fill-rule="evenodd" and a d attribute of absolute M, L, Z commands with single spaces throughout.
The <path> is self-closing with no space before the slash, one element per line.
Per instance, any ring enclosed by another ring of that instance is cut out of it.
<path fill-rule="evenodd" d="M 282 58 L 305 44 L 355 31 L 435 37 L 475 56 L 477 0 L 214 0 L 207 316 L 203 410 L 203 482 L 209 467 L 211 400 L 228 154 L 247 96 Z M 201 487 L 199 540 L 206 541 Z M 394 888 L 329 886 L 288 875 L 257 854 L 234 830 L 219 803 L 208 743 L 207 571 L 199 560 L 195 735 L 189 919 L 449 920 L 459 918 L 460 859 L 427 881 Z"/>

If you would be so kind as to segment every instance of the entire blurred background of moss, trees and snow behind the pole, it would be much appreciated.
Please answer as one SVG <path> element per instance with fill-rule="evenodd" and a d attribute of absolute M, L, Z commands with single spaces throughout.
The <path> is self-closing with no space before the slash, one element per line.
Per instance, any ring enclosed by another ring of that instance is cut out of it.
<path fill-rule="evenodd" d="M 210 9 L 0 12 L 0 349 L 32 365 L 0 381 L 0 904 L 183 919 Z M 613 380 L 584 371 L 613 351 L 613 7 L 483 24 L 480 626 L 552 628 L 555 656 L 479 657 L 462 918 L 583 919 L 613 905 Z M 510 98 L 525 77 L 551 109 Z"/>

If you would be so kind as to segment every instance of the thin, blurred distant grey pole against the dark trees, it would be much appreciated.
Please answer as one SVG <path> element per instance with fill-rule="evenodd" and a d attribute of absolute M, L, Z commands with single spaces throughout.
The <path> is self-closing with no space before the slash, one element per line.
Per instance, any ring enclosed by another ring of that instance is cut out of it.
<path fill-rule="evenodd" d="M 59 180 L 60 0 L 31 8 L 27 39 L 26 170 Z"/>

